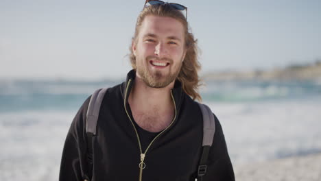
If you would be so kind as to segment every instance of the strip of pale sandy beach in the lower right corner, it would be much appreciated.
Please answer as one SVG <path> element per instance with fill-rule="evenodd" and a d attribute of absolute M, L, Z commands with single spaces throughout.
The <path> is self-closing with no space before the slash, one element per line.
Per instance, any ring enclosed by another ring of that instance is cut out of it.
<path fill-rule="evenodd" d="M 237 181 L 320 181 L 321 154 L 294 156 L 246 165 L 234 165 Z"/>

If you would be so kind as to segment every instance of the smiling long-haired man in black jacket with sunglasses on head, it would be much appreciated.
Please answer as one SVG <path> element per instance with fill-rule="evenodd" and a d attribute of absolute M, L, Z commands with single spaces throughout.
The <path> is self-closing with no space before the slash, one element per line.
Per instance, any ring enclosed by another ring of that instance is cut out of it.
<path fill-rule="evenodd" d="M 176 3 L 145 3 L 130 47 L 133 70 L 102 100 L 93 137 L 93 168 L 88 169 L 86 160 L 88 98 L 67 135 L 60 181 L 197 178 L 203 122 L 193 99 L 200 99 L 200 65 L 182 10 L 187 8 Z M 217 119 L 215 127 L 202 179 L 235 180 Z"/>

